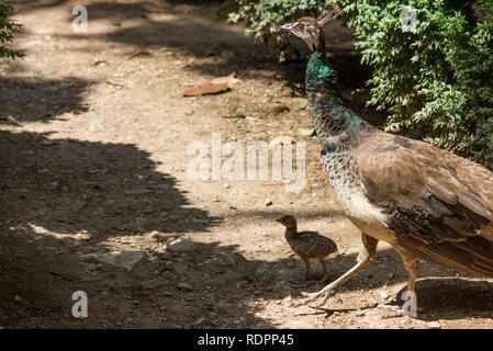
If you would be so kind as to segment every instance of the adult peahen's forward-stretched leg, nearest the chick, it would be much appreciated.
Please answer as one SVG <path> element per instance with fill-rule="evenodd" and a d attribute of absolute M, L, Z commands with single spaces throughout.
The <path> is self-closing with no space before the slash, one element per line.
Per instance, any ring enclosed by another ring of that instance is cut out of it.
<path fill-rule="evenodd" d="M 301 305 L 306 305 L 307 303 L 311 303 L 318 298 L 322 299 L 321 303 L 318 304 L 318 306 L 322 306 L 327 302 L 328 296 L 336 287 L 346 283 L 356 273 L 366 270 L 374 259 L 374 254 L 377 253 L 377 245 L 378 245 L 379 240 L 377 240 L 363 233 L 361 233 L 361 240 L 363 242 L 363 247 L 359 251 L 358 263 L 356 263 L 349 271 L 347 271 L 345 274 L 343 274 L 336 281 L 334 281 L 330 284 L 328 284 L 327 286 L 325 286 L 320 292 L 312 293 L 312 294 L 303 293 L 303 296 L 306 296 L 306 298 L 303 298 L 302 301 L 300 301 L 298 303 L 293 303 L 293 304 L 291 304 L 291 306 L 298 307 Z"/>

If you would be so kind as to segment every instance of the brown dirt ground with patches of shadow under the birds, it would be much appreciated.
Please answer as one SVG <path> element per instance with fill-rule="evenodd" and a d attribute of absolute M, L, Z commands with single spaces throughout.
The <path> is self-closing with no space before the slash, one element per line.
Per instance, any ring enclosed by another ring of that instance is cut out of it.
<path fill-rule="evenodd" d="M 333 238 L 330 281 L 355 262 L 359 231 L 345 218 L 318 160 L 304 61 L 280 65 L 242 26 L 213 21 L 211 1 L 19 0 L 23 60 L 0 61 L 1 328 L 491 328 L 491 280 L 422 262 L 418 317 L 381 319 L 407 274 L 381 242 L 371 268 L 325 309 L 289 307 L 304 268 L 274 222 Z M 89 30 L 71 30 L 71 9 Z M 368 70 L 351 33 L 327 43 L 346 102 L 365 107 Z M 228 94 L 183 90 L 235 73 Z M 277 180 L 192 180 L 192 141 L 306 145 L 306 186 Z M 182 238 L 184 236 L 184 238 Z M 179 247 L 177 240 L 188 246 Z M 175 249 L 173 249 L 175 248 Z M 181 248 L 179 250 L 178 248 Z M 142 251 L 132 270 L 98 254 Z M 313 272 L 322 270 L 313 264 Z M 83 291 L 89 317 L 72 317 Z"/>

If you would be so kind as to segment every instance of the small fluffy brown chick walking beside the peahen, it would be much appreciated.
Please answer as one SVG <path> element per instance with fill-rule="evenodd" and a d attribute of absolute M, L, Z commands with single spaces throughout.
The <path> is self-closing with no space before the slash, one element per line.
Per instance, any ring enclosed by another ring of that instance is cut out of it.
<path fill-rule="evenodd" d="M 294 216 L 285 215 L 276 219 L 285 227 L 284 237 L 291 249 L 305 264 L 305 280 L 309 280 L 311 260 L 317 260 L 324 268 L 324 282 L 328 278 L 325 258 L 337 252 L 337 245 L 329 238 L 321 236 L 316 231 L 298 231 Z"/>

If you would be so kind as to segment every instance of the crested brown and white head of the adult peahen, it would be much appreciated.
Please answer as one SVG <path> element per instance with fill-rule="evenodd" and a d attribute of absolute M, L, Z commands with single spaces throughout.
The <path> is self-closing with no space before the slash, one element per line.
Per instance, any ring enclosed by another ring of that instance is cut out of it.
<path fill-rule="evenodd" d="M 324 13 L 320 19 L 304 16 L 282 25 L 279 31 L 288 31 L 301 37 L 312 52 L 325 52 L 324 24 L 340 14 L 343 14 L 343 11 L 332 5 L 332 10 Z"/>

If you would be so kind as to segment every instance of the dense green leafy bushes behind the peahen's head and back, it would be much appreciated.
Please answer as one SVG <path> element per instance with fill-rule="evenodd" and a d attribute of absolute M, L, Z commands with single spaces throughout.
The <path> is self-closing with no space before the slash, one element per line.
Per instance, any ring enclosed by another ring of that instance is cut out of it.
<path fill-rule="evenodd" d="M 325 1 L 237 0 L 229 18 L 256 36 L 272 34 Z M 333 0 L 373 68 L 370 104 L 389 111 L 388 129 L 470 157 L 493 169 L 493 1 Z M 404 7 L 416 29 L 404 30 Z"/>

